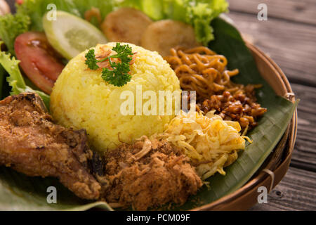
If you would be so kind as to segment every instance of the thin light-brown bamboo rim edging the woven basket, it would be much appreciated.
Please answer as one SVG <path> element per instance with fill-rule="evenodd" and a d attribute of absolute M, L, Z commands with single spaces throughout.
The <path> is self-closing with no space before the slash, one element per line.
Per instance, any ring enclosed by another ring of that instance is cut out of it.
<path fill-rule="evenodd" d="M 277 71 L 277 75 L 279 75 L 279 77 L 282 79 L 282 82 L 284 83 L 287 91 L 289 93 L 292 93 L 293 91 L 291 89 L 291 85 L 289 83 L 289 80 L 284 75 L 284 72 L 281 70 L 281 68 L 279 68 L 277 63 L 275 63 L 269 56 L 267 56 L 257 46 L 254 46 L 254 44 L 251 44 L 248 41 L 245 41 L 245 42 L 246 42 L 246 46 L 248 47 L 249 50 L 251 50 L 252 52 L 261 56 L 267 63 L 270 63 L 270 65 Z M 295 102 L 296 97 L 293 96 L 289 100 L 292 102 Z M 289 150 L 288 150 L 287 157 L 284 158 L 280 162 L 280 164 L 274 169 L 274 171 L 277 171 L 278 169 L 283 168 L 284 166 L 287 167 L 287 169 L 288 169 L 288 166 L 289 166 L 288 164 L 289 164 L 289 161 L 291 160 L 291 155 L 292 155 L 293 150 L 294 150 L 294 145 L 295 145 L 295 141 L 296 141 L 296 133 L 297 133 L 297 109 L 294 111 L 294 115 L 292 117 L 291 122 L 289 123 L 289 127 L 288 127 L 287 131 L 282 136 L 282 139 L 284 139 L 284 137 L 285 137 L 285 138 L 287 138 L 287 141 L 289 142 Z M 267 160 L 268 160 L 268 158 L 267 158 Z M 282 174 L 282 178 L 284 175 L 285 175 L 285 173 Z M 203 205 L 200 207 L 195 207 L 192 209 L 192 211 L 216 210 L 216 208 L 219 208 L 220 206 L 231 203 L 232 201 L 237 200 L 238 198 L 241 198 L 243 195 L 246 195 L 246 193 L 248 193 L 249 191 L 253 191 L 254 187 L 258 186 L 258 184 L 262 184 L 263 181 L 265 181 L 266 179 L 269 179 L 268 174 L 266 174 L 265 172 L 262 172 L 262 170 L 261 170 L 261 173 L 259 173 L 256 177 L 250 179 L 246 184 L 244 184 L 244 186 L 242 186 L 238 190 L 234 191 L 233 193 L 225 195 L 222 198 L 214 201 L 213 203 L 209 203 L 209 204 L 206 204 L 206 205 Z M 275 183 L 273 187 L 275 187 L 277 185 L 277 183 Z"/>

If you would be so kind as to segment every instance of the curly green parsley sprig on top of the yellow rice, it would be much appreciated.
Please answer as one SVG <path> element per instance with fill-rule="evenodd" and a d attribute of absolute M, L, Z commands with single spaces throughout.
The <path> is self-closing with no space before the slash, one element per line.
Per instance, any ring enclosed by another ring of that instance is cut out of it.
<path fill-rule="evenodd" d="M 113 56 L 108 56 L 106 58 L 103 58 L 102 60 L 97 60 L 94 49 L 90 49 L 88 53 L 86 53 L 85 63 L 86 65 L 88 65 L 89 69 L 98 70 L 98 68 L 100 67 L 97 63 L 109 60 L 112 70 L 109 70 L 108 68 L 103 68 L 101 75 L 102 79 L 114 86 L 124 86 L 131 81 L 131 75 L 129 74 L 131 69 L 129 63 L 131 63 L 131 60 L 133 59 L 131 57 L 133 56 L 133 52 L 128 44 L 121 45 L 120 43 L 117 43 L 117 45 L 113 47 L 112 50 L 117 52 L 117 54 Z M 112 62 L 112 58 L 119 58 L 120 62 Z"/>

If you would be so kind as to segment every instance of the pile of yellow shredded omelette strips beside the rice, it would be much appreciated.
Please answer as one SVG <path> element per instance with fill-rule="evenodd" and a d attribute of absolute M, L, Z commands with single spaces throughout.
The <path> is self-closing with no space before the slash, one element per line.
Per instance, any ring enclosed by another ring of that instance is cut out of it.
<path fill-rule="evenodd" d="M 181 148 L 197 168 L 197 174 L 207 179 L 216 172 L 225 175 L 223 167 L 238 158 L 237 151 L 245 148 L 246 136 L 241 136 L 239 122 L 224 121 L 215 111 L 207 113 L 181 112 L 171 120 L 158 139 L 165 139 Z"/>

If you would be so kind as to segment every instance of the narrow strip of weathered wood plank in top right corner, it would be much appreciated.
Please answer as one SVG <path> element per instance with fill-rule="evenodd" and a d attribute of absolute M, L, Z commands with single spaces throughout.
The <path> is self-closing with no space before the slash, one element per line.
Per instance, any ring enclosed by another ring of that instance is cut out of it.
<path fill-rule="evenodd" d="M 228 0 L 230 11 L 243 13 L 258 13 L 258 5 L 268 6 L 268 17 L 282 18 L 316 25 L 316 1 L 315 0 Z"/>

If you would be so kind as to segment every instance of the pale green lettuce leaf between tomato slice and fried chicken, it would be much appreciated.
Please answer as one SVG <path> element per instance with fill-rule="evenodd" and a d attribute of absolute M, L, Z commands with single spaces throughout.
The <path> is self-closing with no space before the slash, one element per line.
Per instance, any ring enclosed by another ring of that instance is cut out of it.
<path fill-rule="evenodd" d="M 25 84 L 19 68 L 20 60 L 16 60 L 15 57 L 11 58 L 10 53 L 0 52 L 0 65 L 8 72 L 6 81 L 11 86 L 11 95 L 20 94 L 22 92 L 34 92 L 37 93 L 43 99 L 47 108 L 49 108 L 49 102 L 51 97 L 44 92 L 37 91 Z"/>

